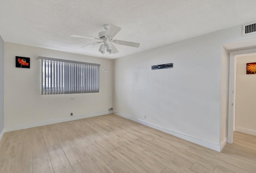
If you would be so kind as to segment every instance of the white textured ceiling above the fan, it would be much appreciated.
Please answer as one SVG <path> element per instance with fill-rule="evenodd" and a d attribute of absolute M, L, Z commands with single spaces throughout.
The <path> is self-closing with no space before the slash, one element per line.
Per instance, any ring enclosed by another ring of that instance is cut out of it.
<path fill-rule="evenodd" d="M 0 35 L 13 42 L 102 57 L 95 40 L 103 24 L 122 28 L 114 59 L 256 20 L 256 0 L 0 0 Z"/>

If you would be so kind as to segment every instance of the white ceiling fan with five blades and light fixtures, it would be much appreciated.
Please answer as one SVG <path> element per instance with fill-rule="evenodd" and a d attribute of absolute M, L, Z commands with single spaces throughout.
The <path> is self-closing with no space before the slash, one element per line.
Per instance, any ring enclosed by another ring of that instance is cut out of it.
<path fill-rule="evenodd" d="M 99 52 L 102 54 L 105 54 L 105 51 L 107 51 L 109 54 L 118 53 L 119 51 L 114 46 L 114 44 L 121 44 L 124 46 L 131 46 L 131 47 L 135 47 L 135 48 L 138 48 L 140 46 L 140 43 L 127 42 L 127 41 L 123 41 L 123 40 L 113 40 L 114 36 L 121 30 L 121 28 L 118 26 L 115 26 L 115 25 L 109 26 L 109 25 L 105 24 L 105 25 L 103 25 L 103 28 L 105 31 L 99 32 L 98 38 L 87 37 L 87 36 L 78 36 L 78 35 L 70 35 L 70 36 L 78 37 L 78 38 L 89 38 L 89 39 L 100 40 L 99 42 L 88 44 L 86 46 L 83 46 L 82 48 L 90 48 L 92 46 L 96 46 L 96 45 L 102 43 L 99 48 Z"/>

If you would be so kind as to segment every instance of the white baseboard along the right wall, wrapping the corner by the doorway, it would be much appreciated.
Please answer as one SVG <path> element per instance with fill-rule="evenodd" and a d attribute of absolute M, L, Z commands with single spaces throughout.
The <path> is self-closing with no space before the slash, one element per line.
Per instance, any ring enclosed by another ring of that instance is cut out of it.
<path fill-rule="evenodd" d="M 220 152 L 223 149 L 223 147 L 225 146 L 225 144 L 226 144 L 226 137 L 225 137 L 225 139 L 223 139 L 223 141 L 219 145 L 219 144 L 216 144 L 216 143 L 212 143 L 212 142 L 206 141 L 204 139 L 199 139 L 197 137 L 192 137 L 192 136 L 189 136 L 189 135 L 185 135 L 185 134 L 176 132 L 176 131 L 174 131 L 172 129 L 168 129 L 168 128 L 162 127 L 160 125 L 156 125 L 154 123 L 150 123 L 148 121 L 144 121 L 142 119 L 134 118 L 134 117 L 132 117 L 130 115 L 126 115 L 126 114 L 123 114 L 123 113 L 120 113 L 120 112 L 115 112 L 114 114 L 116 114 L 116 115 L 118 115 L 120 117 L 124 117 L 124 118 L 130 119 L 132 121 L 136 121 L 137 123 L 146 125 L 148 127 L 152 127 L 154 129 L 158 129 L 158 130 L 163 131 L 165 133 L 168 133 L 170 135 L 174 135 L 176 137 L 180 137 L 180 138 L 185 139 L 187 141 L 190 141 L 192 143 L 196 143 L 198 145 L 201 145 L 201 146 L 213 149 L 213 150 L 218 151 L 218 152 Z"/>

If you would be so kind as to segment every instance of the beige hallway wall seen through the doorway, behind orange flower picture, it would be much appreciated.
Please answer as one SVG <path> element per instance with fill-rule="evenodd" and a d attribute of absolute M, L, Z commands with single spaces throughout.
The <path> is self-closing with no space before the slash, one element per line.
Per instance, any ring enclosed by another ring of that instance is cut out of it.
<path fill-rule="evenodd" d="M 236 59 L 235 130 L 256 135 L 256 74 L 246 74 L 246 63 L 256 62 L 256 55 Z"/>

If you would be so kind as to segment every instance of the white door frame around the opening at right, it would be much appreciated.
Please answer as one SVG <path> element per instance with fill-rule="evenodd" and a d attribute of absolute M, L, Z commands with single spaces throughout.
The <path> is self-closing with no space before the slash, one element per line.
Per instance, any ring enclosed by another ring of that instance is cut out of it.
<path fill-rule="evenodd" d="M 235 120 L 236 100 L 236 56 L 243 54 L 254 54 L 256 48 L 230 52 L 229 56 L 229 86 L 228 86 L 228 143 L 233 143 L 233 131 Z"/>

